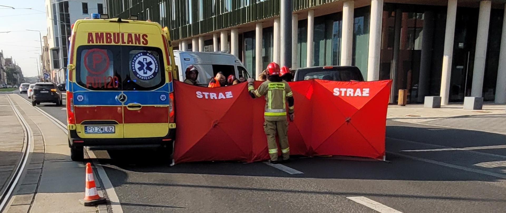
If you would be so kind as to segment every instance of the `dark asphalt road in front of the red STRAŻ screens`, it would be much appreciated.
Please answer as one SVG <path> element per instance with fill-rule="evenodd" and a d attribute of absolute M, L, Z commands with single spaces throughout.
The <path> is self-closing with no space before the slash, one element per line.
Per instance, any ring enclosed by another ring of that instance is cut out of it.
<path fill-rule="evenodd" d="M 66 120 L 63 107 L 39 108 Z M 170 167 L 167 156 L 154 151 L 114 151 L 99 161 L 124 212 L 377 212 L 348 197 L 405 213 L 504 212 L 506 135 L 387 125 L 390 163 L 300 157 L 285 164 L 303 174 L 261 162 Z"/>

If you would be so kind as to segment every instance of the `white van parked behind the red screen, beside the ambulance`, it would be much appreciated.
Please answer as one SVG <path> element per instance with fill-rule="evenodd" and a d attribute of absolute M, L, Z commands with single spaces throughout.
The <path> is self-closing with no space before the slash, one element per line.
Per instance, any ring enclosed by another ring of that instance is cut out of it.
<path fill-rule="evenodd" d="M 186 68 L 193 65 L 198 70 L 197 83 L 200 86 L 207 86 L 209 81 L 216 76 L 216 73 L 222 72 L 227 78 L 229 75 L 235 75 L 237 79 L 244 77 L 250 78 L 250 75 L 237 57 L 226 52 L 190 52 L 174 50 L 174 59 L 179 69 L 179 80 L 186 79 Z"/>

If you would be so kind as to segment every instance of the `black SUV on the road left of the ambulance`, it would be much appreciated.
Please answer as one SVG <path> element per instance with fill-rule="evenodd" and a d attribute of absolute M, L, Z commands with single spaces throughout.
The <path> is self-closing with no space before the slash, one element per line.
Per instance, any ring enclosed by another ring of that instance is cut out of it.
<path fill-rule="evenodd" d="M 38 82 L 33 86 L 31 99 L 32 105 L 40 104 L 41 102 L 53 102 L 57 106 L 61 106 L 62 92 L 54 83 Z"/>

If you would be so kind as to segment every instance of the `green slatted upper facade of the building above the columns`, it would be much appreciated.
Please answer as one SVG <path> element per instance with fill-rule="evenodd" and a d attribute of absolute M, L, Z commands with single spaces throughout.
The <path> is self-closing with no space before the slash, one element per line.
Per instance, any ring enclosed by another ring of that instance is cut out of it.
<path fill-rule="evenodd" d="M 279 15 L 280 0 L 106 0 L 110 17 L 160 22 L 160 10 L 172 40 L 218 31 Z M 293 0 L 293 11 L 340 0 Z M 160 3 L 165 7 L 160 9 Z M 130 5 L 132 4 L 132 5 Z M 124 10 L 123 10 L 124 9 Z M 148 12 L 149 11 L 149 12 Z M 148 14 L 149 13 L 149 14 Z M 149 15 L 149 17 L 148 17 Z"/>

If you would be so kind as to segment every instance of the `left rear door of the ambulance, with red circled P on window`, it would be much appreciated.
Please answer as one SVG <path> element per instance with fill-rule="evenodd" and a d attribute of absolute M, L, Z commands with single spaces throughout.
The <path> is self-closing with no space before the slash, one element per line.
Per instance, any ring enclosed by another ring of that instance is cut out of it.
<path fill-rule="evenodd" d="M 115 22 L 81 22 L 76 29 L 72 85 L 77 135 L 123 138 L 121 48 Z M 70 88 L 70 87 L 69 87 Z"/>

